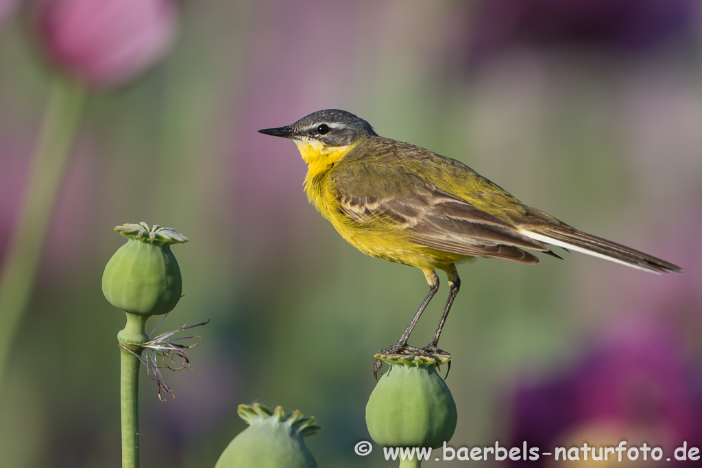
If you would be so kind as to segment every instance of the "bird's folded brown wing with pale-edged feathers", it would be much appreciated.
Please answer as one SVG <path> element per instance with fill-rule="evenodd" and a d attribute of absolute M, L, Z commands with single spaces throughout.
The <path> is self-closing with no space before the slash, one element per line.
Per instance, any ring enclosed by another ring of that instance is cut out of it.
<path fill-rule="evenodd" d="M 366 229 L 402 234 L 451 253 L 536 263 L 520 248 L 549 252 L 515 225 L 395 166 L 347 164 L 332 175 L 338 209 Z"/>

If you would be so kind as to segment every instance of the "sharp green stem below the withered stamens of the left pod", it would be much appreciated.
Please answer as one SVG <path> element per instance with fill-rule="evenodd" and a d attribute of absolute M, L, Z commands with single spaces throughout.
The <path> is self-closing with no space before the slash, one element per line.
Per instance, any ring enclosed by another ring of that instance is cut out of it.
<path fill-rule="evenodd" d="M 123 346 L 128 346 L 122 343 Z M 142 347 L 131 347 L 138 355 Z M 139 366 L 137 355 L 119 349 L 119 401 L 122 422 L 122 468 L 139 468 Z"/>

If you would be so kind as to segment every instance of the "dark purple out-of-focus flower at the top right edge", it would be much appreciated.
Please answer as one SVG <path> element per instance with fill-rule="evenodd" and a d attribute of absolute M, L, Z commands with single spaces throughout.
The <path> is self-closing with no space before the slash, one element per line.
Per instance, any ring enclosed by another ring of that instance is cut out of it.
<path fill-rule="evenodd" d="M 657 46 L 691 33 L 694 0 L 491 0 L 472 18 L 471 55 L 508 44 Z"/>

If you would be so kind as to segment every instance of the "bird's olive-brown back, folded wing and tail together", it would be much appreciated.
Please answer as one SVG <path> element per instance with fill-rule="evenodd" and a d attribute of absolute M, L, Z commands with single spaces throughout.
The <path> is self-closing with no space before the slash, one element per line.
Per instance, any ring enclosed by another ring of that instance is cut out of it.
<path fill-rule="evenodd" d="M 336 209 L 346 222 L 402 235 L 459 255 L 537 262 L 522 248 L 550 255 L 546 244 L 652 272 L 680 267 L 578 231 L 520 203 L 455 159 L 388 138 L 359 144 L 334 166 Z"/>

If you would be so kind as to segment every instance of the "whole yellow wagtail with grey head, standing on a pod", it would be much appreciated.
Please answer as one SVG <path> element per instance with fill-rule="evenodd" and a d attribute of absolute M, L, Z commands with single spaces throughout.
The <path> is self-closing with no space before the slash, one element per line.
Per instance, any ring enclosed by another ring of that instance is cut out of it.
<path fill-rule="evenodd" d="M 350 112 L 326 109 L 259 132 L 295 143 L 307 163 L 307 197 L 352 246 L 424 273 L 429 293 L 402 337 L 380 354 L 442 352 L 439 335 L 461 287 L 456 263 L 475 257 L 536 263 L 522 249 L 558 257 L 545 246 L 550 244 L 647 272 L 680 272 L 522 204 L 455 159 L 383 138 Z M 439 289 L 437 268 L 449 278 L 449 299 L 429 345 L 411 347 L 409 335 Z"/>

